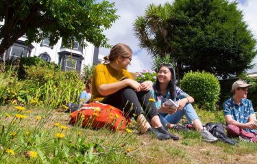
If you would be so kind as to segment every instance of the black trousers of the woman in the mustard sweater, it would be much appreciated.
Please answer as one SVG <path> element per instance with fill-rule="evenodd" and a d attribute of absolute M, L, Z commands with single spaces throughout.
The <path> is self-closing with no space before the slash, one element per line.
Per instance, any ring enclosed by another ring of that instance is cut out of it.
<path fill-rule="evenodd" d="M 151 102 L 149 98 L 151 98 L 150 92 L 135 92 L 132 87 L 124 87 L 114 94 L 106 96 L 101 102 L 124 110 L 130 117 L 134 116 L 136 118 L 144 113 L 146 118 L 151 120 L 159 113 L 155 103 Z"/>

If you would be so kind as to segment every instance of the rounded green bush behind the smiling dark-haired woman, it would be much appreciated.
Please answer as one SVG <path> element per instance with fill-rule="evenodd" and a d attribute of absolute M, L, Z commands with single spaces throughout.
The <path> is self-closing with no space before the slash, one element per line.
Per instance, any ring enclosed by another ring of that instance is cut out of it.
<path fill-rule="evenodd" d="M 215 110 L 219 100 L 220 85 L 218 79 L 208 72 L 188 72 L 181 81 L 183 90 L 195 98 L 201 109 Z"/>

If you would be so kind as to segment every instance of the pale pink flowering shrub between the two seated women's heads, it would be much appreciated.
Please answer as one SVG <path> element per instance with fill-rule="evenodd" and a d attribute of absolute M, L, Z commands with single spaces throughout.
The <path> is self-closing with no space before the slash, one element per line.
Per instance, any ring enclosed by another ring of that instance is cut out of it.
<path fill-rule="evenodd" d="M 157 73 L 154 70 L 143 70 L 136 74 L 136 81 L 151 81 L 153 83 L 156 82 Z"/>

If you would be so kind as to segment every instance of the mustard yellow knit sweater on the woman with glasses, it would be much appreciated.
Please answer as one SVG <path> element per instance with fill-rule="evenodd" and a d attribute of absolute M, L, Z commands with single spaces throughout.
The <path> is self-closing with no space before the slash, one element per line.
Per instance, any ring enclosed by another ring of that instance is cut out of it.
<path fill-rule="evenodd" d="M 132 79 L 127 70 L 115 70 L 110 64 L 99 64 L 95 67 L 92 81 L 92 101 L 103 100 L 105 96 L 99 94 L 97 88 L 103 84 L 116 83 L 121 79 Z"/>

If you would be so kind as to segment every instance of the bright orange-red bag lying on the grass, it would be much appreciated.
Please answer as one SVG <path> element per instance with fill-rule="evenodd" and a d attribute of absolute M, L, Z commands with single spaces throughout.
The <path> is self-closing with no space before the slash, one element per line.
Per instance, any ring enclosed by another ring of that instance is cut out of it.
<path fill-rule="evenodd" d="M 70 124 L 82 127 L 110 128 L 111 131 L 123 131 L 130 118 L 126 119 L 123 112 L 111 105 L 100 102 L 91 102 L 84 105 L 81 110 L 71 113 Z"/>

